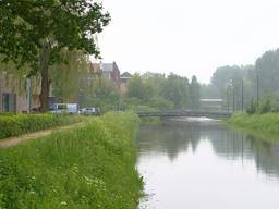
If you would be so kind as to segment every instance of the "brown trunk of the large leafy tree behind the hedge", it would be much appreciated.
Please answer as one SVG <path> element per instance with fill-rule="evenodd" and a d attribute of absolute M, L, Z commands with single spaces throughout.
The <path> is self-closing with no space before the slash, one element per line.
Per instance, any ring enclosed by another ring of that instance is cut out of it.
<path fill-rule="evenodd" d="M 39 50 L 39 67 L 40 67 L 40 112 L 48 111 L 49 81 L 48 81 L 48 56 L 49 51 L 46 45 Z"/>

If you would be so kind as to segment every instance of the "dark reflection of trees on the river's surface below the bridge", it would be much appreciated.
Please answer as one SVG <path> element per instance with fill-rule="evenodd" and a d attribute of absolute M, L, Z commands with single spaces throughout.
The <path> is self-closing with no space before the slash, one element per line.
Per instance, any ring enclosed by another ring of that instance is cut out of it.
<path fill-rule="evenodd" d="M 203 138 L 209 139 L 215 152 L 228 160 L 255 160 L 257 169 L 279 176 L 279 146 L 255 139 L 226 127 L 219 122 L 165 122 L 142 126 L 140 149 L 167 152 L 171 160 L 180 152 L 195 152 Z"/>

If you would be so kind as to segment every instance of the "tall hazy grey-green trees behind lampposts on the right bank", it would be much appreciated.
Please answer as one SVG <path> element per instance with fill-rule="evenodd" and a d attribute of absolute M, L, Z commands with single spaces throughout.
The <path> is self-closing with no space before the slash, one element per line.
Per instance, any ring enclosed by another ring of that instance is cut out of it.
<path fill-rule="evenodd" d="M 279 96 L 279 49 L 265 52 L 254 65 L 221 66 L 211 77 L 211 84 L 202 88 L 202 95 L 213 93 L 222 97 L 225 106 L 235 110 L 244 107 L 248 112 L 276 110 Z M 243 93 L 242 93 L 243 91 Z M 243 95 L 243 101 L 242 101 Z M 251 111 L 253 110 L 253 111 Z"/>

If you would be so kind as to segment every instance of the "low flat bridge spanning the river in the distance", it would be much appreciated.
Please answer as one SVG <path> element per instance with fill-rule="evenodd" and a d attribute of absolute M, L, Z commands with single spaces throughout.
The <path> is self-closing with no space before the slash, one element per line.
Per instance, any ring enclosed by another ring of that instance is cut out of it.
<path fill-rule="evenodd" d="M 172 110 L 172 111 L 135 111 L 140 118 L 178 118 L 178 116 L 191 116 L 191 118 L 209 118 L 209 119 L 226 119 L 232 115 L 232 112 L 213 112 L 203 110 Z"/>

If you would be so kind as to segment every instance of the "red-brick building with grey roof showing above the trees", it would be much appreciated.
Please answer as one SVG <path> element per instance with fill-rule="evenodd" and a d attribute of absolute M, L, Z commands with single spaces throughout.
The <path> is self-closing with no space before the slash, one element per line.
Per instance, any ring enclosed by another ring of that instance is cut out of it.
<path fill-rule="evenodd" d="M 111 79 L 116 83 L 118 89 L 120 89 L 120 71 L 116 62 L 112 63 L 92 63 L 89 71 L 89 79 L 95 79 L 96 76 L 101 74 L 102 77 Z"/>

